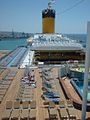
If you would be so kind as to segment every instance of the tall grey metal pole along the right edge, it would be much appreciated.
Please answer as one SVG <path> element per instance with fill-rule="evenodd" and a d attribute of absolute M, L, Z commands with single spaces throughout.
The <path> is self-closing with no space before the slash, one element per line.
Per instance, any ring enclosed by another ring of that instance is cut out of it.
<path fill-rule="evenodd" d="M 82 104 L 82 120 L 85 120 L 85 118 L 86 118 L 89 67 L 90 67 L 90 22 L 88 22 L 88 25 L 87 25 L 87 42 L 86 42 L 86 56 L 85 56 L 85 74 L 84 74 L 84 89 L 83 89 L 83 104 Z"/>

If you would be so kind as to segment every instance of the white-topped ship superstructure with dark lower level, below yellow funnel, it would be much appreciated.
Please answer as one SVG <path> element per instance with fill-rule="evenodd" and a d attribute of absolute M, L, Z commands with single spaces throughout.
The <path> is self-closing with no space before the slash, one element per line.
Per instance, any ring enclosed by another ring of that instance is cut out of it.
<path fill-rule="evenodd" d="M 68 60 L 84 60 L 84 48 L 61 34 L 36 34 L 30 43 L 34 63 L 59 64 Z"/>

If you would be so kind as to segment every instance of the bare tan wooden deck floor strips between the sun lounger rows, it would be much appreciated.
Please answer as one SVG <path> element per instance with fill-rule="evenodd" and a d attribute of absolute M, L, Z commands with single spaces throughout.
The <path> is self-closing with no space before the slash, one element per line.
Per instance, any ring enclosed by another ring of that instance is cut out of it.
<path fill-rule="evenodd" d="M 5 111 L 6 101 L 16 99 L 16 94 L 17 94 L 19 86 L 20 86 L 20 79 L 24 76 L 25 69 L 17 69 L 17 68 L 11 68 L 11 69 L 16 69 L 17 73 L 16 73 L 16 76 L 14 77 L 14 79 L 12 80 L 12 83 L 10 84 L 10 86 L 0 104 L 0 120 L 1 120 L 2 113 Z M 5 73 L 7 71 L 8 70 L 5 69 L 0 74 L 0 79 L 5 75 Z M 36 100 L 36 109 L 37 109 L 36 120 L 44 120 L 46 117 L 48 117 L 47 108 L 44 107 L 43 99 L 41 98 L 43 91 L 42 91 L 42 77 L 41 77 L 40 71 L 42 71 L 42 69 L 35 69 L 36 88 L 34 89 L 33 99 Z M 60 96 L 60 100 L 64 100 L 66 103 L 67 99 L 65 98 L 65 95 L 60 86 L 59 80 L 57 79 L 58 69 L 53 68 L 52 72 L 53 72 L 53 76 L 54 76 L 54 80 L 55 80 L 55 84 L 56 84 L 56 91 L 58 92 L 58 94 Z M 75 109 L 75 111 L 77 112 L 77 115 L 79 116 L 79 118 L 81 118 L 81 111 L 77 110 L 77 109 Z M 86 115 L 87 118 L 90 117 L 90 112 L 87 112 L 86 114 L 87 114 Z M 57 112 L 57 117 L 58 117 L 58 120 L 60 120 L 58 112 Z"/>

